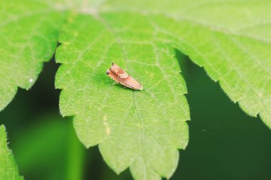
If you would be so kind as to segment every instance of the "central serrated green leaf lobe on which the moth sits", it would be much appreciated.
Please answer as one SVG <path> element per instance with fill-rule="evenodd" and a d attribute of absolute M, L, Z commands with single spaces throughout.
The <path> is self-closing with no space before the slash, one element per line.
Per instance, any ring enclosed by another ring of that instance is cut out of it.
<path fill-rule="evenodd" d="M 86 147 L 99 144 L 117 173 L 130 166 L 135 179 L 170 178 L 177 149 L 188 144 L 190 118 L 174 48 L 140 14 L 81 14 L 70 21 L 56 52 L 61 114 L 75 115 L 79 139 Z M 106 75 L 112 62 L 143 91 L 112 85 Z"/>

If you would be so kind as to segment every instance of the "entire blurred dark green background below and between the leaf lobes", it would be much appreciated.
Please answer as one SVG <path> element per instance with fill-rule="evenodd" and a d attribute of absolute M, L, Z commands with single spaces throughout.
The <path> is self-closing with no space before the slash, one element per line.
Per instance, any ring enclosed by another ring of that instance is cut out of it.
<path fill-rule="evenodd" d="M 176 55 L 188 86 L 191 121 L 190 141 L 180 151 L 172 179 L 271 179 L 270 129 L 230 102 L 203 68 Z M 128 170 L 116 175 L 98 147 L 83 147 L 72 117 L 61 117 L 60 90 L 53 85 L 57 68 L 54 60 L 45 63 L 34 87 L 19 89 L 0 112 L 0 124 L 6 125 L 20 174 L 26 180 L 132 179 Z"/>

